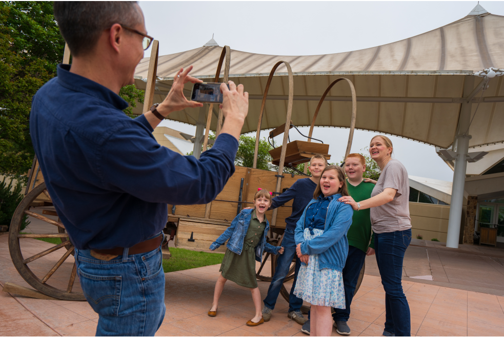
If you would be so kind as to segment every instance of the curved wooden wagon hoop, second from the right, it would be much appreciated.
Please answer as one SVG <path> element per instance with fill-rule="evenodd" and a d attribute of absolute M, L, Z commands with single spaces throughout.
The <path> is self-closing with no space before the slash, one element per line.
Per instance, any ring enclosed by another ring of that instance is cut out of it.
<path fill-rule="evenodd" d="M 287 61 L 276 62 L 276 64 L 273 66 L 273 69 L 271 69 L 270 76 L 268 77 L 268 82 L 266 83 L 266 88 L 264 90 L 263 102 L 261 103 L 261 110 L 259 112 L 259 122 L 257 123 L 257 132 L 255 134 L 254 163 L 252 165 L 252 168 L 257 167 L 257 153 L 259 151 L 259 135 L 261 132 L 261 122 L 263 121 L 264 107 L 266 105 L 266 97 L 268 96 L 268 90 L 270 89 L 271 80 L 273 79 L 273 75 L 275 73 L 275 70 L 281 64 L 285 64 L 285 66 L 287 67 L 287 72 L 289 74 L 289 102 L 287 104 L 287 116 L 285 119 L 286 123 L 285 123 L 285 130 L 284 130 L 284 141 L 282 142 L 280 163 L 278 165 L 278 179 L 276 181 L 276 188 L 275 188 L 275 192 L 277 192 L 277 193 L 280 192 L 281 178 L 283 177 L 282 172 L 284 172 L 284 160 L 285 160 L 285 154 L 287 151 L 287 142 L 289 139 L 289 129 L 290 129 L 290 123 L 288 123 L 288 121 L 290 121 L 291 117 L 292 117 L 292 103 L 294 101 L 294 76 L 292 74 L 291 65 Z M 271 227 L 274 227 L 276 225 L 276 214 L 277 213 L 278 213 L 278 208 L 273 209 L 273 214 L 271 216 Z"/>

